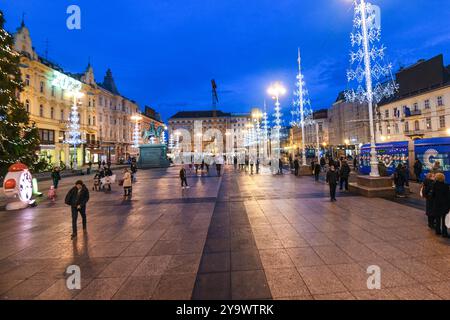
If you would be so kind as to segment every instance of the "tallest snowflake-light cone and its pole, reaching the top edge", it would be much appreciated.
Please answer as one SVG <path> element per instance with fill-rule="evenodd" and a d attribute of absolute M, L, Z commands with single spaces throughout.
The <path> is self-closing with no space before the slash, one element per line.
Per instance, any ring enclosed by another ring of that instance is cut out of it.
<path fill-rule="evenodd" d="M 370 126 L 370 176 L 379 177 L 377 153 L 375 149 L 375 128 L 373 104 L 383 98 L 393 96 L 398 85 L 393 80 L 392 65 L 384 62 L 386 48 L 380 44 L 380 10 L 365 0 L 354 1 L 353 32 L 350 34 L 352 47 L 350 52 L 352 69 L 347 71 L 348 82 L 357 82 L 355 90 L 345 92 L 349 102 L 367 103 Z M 365 87 L 364 87 L 365 86 Z"/>

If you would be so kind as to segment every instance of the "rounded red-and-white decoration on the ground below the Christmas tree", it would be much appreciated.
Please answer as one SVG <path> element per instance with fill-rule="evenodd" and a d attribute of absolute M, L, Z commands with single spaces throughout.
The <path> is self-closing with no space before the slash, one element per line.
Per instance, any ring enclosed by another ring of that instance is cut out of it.
<path fill-rule="evenodd" d="M 8 168 L 3 181 L 3 190 L 7 198 L 15 201 L 6 205 L 6 210 L 18 210 L 32 204 L 33 181 L 28 167 L 17 162 Z"/>

